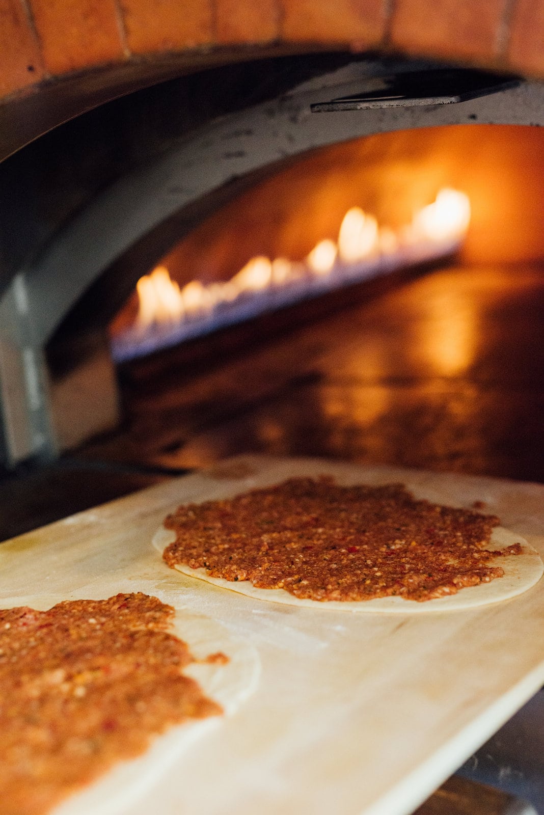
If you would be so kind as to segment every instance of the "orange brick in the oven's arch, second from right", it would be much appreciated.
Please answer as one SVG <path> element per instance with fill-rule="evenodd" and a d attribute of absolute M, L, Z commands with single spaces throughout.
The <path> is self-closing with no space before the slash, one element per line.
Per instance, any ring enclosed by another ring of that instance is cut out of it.
<path fill-rule="evenodd" d="M 503 10 L 504 0 L 397 0 L 392 44 L 413 55 L 489 61 Z"/>

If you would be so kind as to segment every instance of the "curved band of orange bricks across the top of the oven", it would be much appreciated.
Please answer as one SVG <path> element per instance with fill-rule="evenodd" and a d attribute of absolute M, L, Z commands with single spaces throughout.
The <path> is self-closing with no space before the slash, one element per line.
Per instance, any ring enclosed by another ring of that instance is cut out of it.
<path fill-rule="evenodd" d="M 380 49 L 544 76 L 544 0 L 0 0 L 0 98 L 236 46 Z"/>

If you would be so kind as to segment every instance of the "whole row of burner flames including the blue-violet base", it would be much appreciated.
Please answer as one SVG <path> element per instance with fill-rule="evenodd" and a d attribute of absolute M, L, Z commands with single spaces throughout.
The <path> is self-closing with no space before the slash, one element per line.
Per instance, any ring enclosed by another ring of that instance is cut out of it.
<path fill-rule="evenodd" d="M 265 311 L 316 297 L 330 289 L 452 253 L 470 222 L 470 201 L 444 188 L 435 201 L 395 232 L 354 206 L 340 224 L 338 240 L 318 241 L 303 262 L 251 258 L 230 280 L 182 288 L 164 266 L 138 280 L 138 315 L 112 337 L 121 361 L 250 319 Z"/>

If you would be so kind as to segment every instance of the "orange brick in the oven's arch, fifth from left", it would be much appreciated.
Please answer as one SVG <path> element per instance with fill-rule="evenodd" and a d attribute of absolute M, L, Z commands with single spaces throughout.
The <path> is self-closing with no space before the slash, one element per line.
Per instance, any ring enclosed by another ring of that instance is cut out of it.
<path fill-rule="evenodd" d="M 383 37 L 385 17 L 384 0 L 283 0 L 282 36 L 368 47 Z"/>

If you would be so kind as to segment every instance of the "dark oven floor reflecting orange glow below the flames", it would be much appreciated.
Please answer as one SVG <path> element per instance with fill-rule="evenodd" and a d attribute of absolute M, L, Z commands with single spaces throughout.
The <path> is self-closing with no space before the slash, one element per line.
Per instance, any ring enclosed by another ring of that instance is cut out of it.
<path fill-rule="evenodd" d="M 165 469 L 301 454 L 544 481 L 544 267 L 438 269 L 315 309 L 125 365 L 125 429 L 81 454 Z"/>

